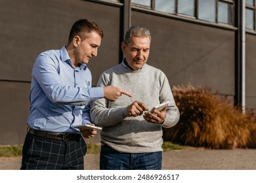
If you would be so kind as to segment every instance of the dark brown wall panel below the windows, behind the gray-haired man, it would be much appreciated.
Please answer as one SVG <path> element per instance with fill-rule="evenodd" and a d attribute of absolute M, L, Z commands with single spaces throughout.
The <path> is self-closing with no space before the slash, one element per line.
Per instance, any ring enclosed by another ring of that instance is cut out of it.
<path fill-rule="evenodd" d="M 164 71 L 171 85 L 190 83 L 234 95 L 233 31 L 136 11 L 132 25 L 150 29 L 148 64 Z"/>

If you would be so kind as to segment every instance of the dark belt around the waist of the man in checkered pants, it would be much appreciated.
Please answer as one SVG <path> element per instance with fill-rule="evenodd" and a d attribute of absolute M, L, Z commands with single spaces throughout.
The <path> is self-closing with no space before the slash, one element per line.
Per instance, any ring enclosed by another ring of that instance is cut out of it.
<path fill-rule="evenodd" d="M 60 140 L 60 141 L 79 141 L 81 135 L 75 134 L 75 133 L 51 133 L 46 131 L 39 131 L 32 129 L 30 127 L 30 130 L 28 133 L 38 136 L 38 137 L 45 137 L 47 139 L 53 139 L 53 140 Z"/>

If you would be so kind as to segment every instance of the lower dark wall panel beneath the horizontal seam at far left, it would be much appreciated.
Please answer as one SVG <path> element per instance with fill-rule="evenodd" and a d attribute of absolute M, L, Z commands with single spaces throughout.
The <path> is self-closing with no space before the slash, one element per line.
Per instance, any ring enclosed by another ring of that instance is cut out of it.
<path fill-rule="evenodd" d="M 30 83 L 0 82 L 0 144 L 23 144 L 29 112 Z"/>

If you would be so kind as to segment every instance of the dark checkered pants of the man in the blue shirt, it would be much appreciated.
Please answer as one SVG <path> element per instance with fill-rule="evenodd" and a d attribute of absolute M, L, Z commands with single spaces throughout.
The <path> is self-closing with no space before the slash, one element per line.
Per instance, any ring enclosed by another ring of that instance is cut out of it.
<path fill-rule="evenodd" d="M 27 133 L 22 149 L 21 170 L 83 170 L 87 145 L 79 141 L 60 141 Z"/>

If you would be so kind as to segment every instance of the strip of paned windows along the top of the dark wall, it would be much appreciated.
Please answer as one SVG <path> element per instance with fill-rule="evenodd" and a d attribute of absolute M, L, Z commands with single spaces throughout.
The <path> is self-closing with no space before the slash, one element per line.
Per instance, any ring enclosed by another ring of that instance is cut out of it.
<path fill-rule="evenodd" d="M 247 0 L 254 5 L 256 0 Z M 176 16 L 234 25 L 234 0 L 131 0 L 133 6 Z"/>

